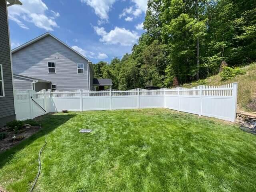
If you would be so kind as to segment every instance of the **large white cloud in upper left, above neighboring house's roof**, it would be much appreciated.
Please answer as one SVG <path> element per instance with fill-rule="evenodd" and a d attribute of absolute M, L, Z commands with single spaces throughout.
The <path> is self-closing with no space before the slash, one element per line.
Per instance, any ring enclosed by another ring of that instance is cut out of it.
<path fill-rule="evenodd" d="M 54 27 L 58 27 L 55 18 L 60 16 L 58 12 L 54 12 L 54 17 L 48 16 L 48 7 L 42 0 L 22 0 L 22 6 L 10 6 L 8 8 L 9 18 L 16 22 L 21 28 L 29 29 L 24 21 L 32 22 L 35 26 L 48 31 L 53 31 Z"/>

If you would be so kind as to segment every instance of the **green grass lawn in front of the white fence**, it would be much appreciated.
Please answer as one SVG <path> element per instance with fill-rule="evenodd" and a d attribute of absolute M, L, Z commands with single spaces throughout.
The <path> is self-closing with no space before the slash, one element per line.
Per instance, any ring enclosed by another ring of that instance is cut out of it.
<path fill-rule="evenodd" d="M 254 192 L 256 137 L 238 126 L 168 109 L 56 113 L 36 192 Z M 81 128 L 90 128 L 82 134 Z M 0 185 L 30 189 L 44 132 L 0 154 Z"/>

